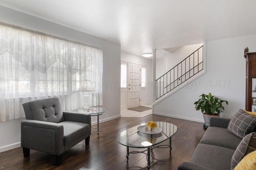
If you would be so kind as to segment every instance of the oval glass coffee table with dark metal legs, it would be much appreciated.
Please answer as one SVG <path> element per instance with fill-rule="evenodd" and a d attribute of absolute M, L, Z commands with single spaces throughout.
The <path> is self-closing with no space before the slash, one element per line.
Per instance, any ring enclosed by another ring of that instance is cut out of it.
<path fill-rule="evenodd" d="M 150 150 L 153 148 L 170 148 L 172 150 L 172 136 L 178 131 L 178 128 L 172 123 L 156 122 L 157 128 L 154 132 L 149 132 L 144 129 L 146 123 L 142 123 L 135 127 L 128 128 L 120 132 L 117 137 L 118 143 L 127 147 L 127 162 L 129 154 L 144 153 L 148 162 L 147 168 L 150 169 Z M 161 145 L 162 142 L 169 139 L 169 144 Z M 129 152 L 129 148 L 147 148 L 143 151 Z"/>

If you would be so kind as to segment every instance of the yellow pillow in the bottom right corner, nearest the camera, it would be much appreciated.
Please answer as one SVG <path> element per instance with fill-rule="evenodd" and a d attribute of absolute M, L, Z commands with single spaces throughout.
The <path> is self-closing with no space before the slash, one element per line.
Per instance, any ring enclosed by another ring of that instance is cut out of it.
<path fill-rule="evenodd" d="M 256 150 L 244 156 L 234 170 L 256 170 Z"/>

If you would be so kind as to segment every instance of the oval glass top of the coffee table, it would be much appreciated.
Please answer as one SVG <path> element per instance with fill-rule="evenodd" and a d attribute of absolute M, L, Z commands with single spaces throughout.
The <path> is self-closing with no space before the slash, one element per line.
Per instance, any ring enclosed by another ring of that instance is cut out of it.
<path fill-rule="evenodd" d="M 146 123 L 141 123 L 140 125 L 120 132 L 117 137 L 118 143 L 133 148 L 146 148 L 169 139 L 178 131 L 176 125 L 172 123 L 156 122 L 157 127 L 161 128 L 162 131 L 157 134 L 146 134 L 138 131 L 138 127 L 144 125 L 146 125 Z"/>

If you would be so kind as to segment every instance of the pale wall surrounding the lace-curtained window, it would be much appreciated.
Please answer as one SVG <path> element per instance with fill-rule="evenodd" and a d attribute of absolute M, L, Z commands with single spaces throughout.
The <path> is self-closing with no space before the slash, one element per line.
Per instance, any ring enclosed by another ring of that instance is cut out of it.
<path fill-rule="evenodd" d="M 100 122 L 120 117 L 120 44 L 108 42 L 3 6 L 0 6 L 0 22 L 101 48 L 103 50 L 103 105 L 100 107 L 104 107 L 108 111 L 100 116 Z M 24 118 L 0 122 L 0 152 L 20 146 L 20 121 L 22 120 Z M 92 123 L 96 123 L 96 117 L 92 117 Z"/>

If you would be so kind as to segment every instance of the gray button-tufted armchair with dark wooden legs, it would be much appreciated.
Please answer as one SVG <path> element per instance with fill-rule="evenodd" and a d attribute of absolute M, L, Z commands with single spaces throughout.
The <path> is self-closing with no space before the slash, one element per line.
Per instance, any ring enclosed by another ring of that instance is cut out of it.
<path fill-rule="evenodd" d="M 58 98 L 29 101 L 23 104 L 26 120 L 21 122 L 21 146 L 24 157 L 30 149 L 56 156 L 56 165 L 62 163 L 62 154 L 85 139 L 90 142 L 91 115 L 72 111 L 62 112 Z"/>

